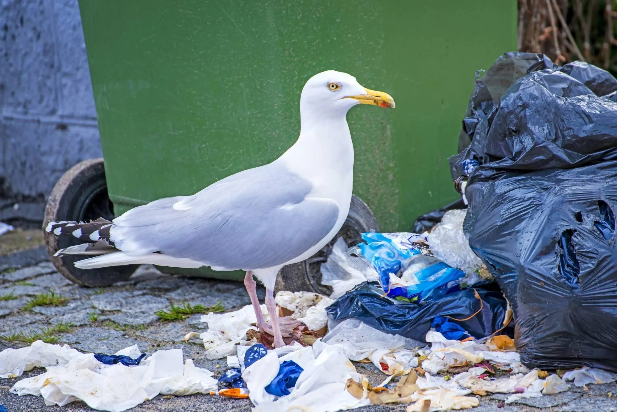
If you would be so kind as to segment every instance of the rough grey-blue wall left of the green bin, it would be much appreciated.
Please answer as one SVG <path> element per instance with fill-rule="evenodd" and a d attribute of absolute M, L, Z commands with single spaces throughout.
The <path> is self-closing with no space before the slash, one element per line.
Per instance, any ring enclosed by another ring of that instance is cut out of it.
<path fill-rule="evenodd" d="M 99 156 L 77 0 L 0 0 L 0 221 L 41 220 L 62 173 Z"/>

